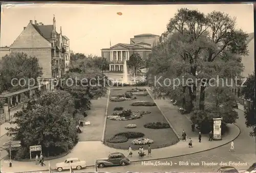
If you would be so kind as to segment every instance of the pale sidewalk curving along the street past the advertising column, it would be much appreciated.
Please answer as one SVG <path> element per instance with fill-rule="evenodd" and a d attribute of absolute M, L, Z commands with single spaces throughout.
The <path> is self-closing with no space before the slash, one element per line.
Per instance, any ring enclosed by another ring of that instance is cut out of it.
<path fill-rule="evenodd" d="M 135 161 L 146 161 L 146 160 L 155 160 L 155 159 L 164 159 L 164 158 L 171 158 L 171 157 L 178 157 L 198 152 L 207 151 L 210 149 L 214 149 L 216 147 L 219 147 L 221 145 L 227 144 L 231 142 L 234 138 L 238 137 L 240 130 L 235 125 L 228 125 L 230 128 L 230 133 L 228 136 L 223 137 L 220 141 L 208 141 L 207 137 L 202 137 L 202 142 L 198 142 L 197 137 L 192 137 L 193 140 L 193 148 L 188 147 L 188 142 L 180 141 L 177 144 L 163 147 L 160 149 L 153 149 L 152 155 L 154 157 L 152 158 L 143 158 L 139 159 L 137 157 L 137 151 L 134 152 L 134 157 L 132 157 L 130 160 L 132 162 Z M 228 149 L 227 149 L 228 150 Z M 114 152 L 120 152 L 124 155 L 127 155 L 126 150 L 118 150 L 113 149 L 111 147 L 108 147 L 100 141 L 85 141 L 85 142 L 78 142 L 77 145 L 74 147 L 74 149 L 71 151 L 70 154 L 68 154 L 65 157 L 53 159 L 53 160 L 47 160 L 45 163 L 47 164 L 44 167 L 38 166 L 35 164 L 34 161 L 31 162 L 18 162 L 13 161 L 12 165 L 13 167 L 8 167 L 8 163 L 5 163 L 4 161 L 1 162 L 2 170 L 4 172 L 21 172 L 21 171 L 38 171 L 38 170 L 46 170 L 48 168 L 48 161 L 51 163 L 51 167 L 55 168 L 55 164 L 58 162 L 63 162 L 67 158 L 73 158 L 78 157 L 80 160 L 86 160 L 88 166 L 94 165 L 94 159 L 99 158 L 105 158 L 108 157 L 110 153 Z"/>

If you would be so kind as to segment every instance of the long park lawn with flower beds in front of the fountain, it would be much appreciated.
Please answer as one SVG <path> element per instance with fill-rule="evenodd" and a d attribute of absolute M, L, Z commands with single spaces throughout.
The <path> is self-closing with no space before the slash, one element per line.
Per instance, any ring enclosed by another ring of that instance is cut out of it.
<path fill-rule="evenodd" d="M 111 89 L 110 97 L 117 95 L 117 94 L 124 94 L 125 91 L 130 90 L 131 88 L 123 88 L 122 90 L 113 90 Z M 141 132 L 145 136 L 143 138 L 149 138 L 154 141 L 153 144 L 151 144 L 152 149 L 156 149 L 158 147 L 165 147 L 172 144 L 175 144 L 178 142 L 178 138 L 173 132 L 171 128 L 167 129 L 147 129 L 144 128 L 143 125 L 147 122 L 165 122 L 165 118 L 161 114 L 160 110 L 157 108 L 157 106 L 153 107 L 146 107 L 146 106 L 131 106 L 133 102 L 136 101 L 148 101 L 148 102 L 154 102 L 151 98 L 151 96 L 148 94 L 147 96 L 137 96 L 137 99 L 132 101 L 123 101 L 123 102 L 109 102 L 108 107 L 108 115 L 112 115 L 114 112 L 114 108 L 116 106 L 123 107 L 124 110 L 131 109 L 132 111 L 138 110 L 138 111 L 150 111 L 150 114 L 143 115 L 142 118 L 139 119 L 133 119 L 133 120 L 125 120 L 125 121 L 117 121 L 117 120 L 106 120 L 106 129 L 105 129 L 105 138 L 104 143 L 110 147 L 114 147 L 116 149 L 128 149 L 129 146 L 132 146 L 132 149 L 138 149 L 139 145 L 133 145 L 132 140 L 129 139 L 127 142 L 123 143 L 108 143 L 106 142 L 108 139 L 110 139 L 112 136 L 114 136 L 117 133 L 120 132 Z M 125 128 L 128 124 L 136 124 L 137 128 L 133 129 L 127 129 Z"/>

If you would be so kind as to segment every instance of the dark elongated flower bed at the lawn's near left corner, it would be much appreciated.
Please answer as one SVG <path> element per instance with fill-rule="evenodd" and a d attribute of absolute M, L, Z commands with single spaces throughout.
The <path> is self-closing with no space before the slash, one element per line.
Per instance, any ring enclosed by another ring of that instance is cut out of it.
<path fill-rule="evenodd" d="M 110 143 L 123 143 L 123 142 L 127 142 L 128 139 L 140 138 L 143 136 L 145 135 L 140 132 L 122 132 L 122 133 L 115 134 L 113 137 L 111 137 L 107 141 Z"/>

